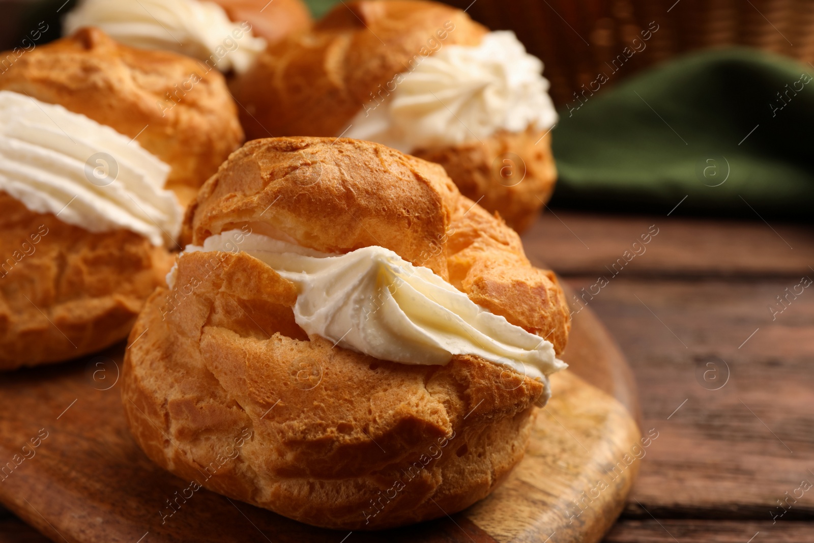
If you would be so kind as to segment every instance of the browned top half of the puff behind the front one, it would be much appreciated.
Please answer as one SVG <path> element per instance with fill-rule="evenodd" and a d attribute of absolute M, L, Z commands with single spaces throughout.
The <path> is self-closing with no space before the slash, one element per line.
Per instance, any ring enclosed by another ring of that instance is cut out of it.
<path fill-rule="evenodd" d="M 240 102 L 269 104 L 261 112 L 247 106 L 244 129 L 250 138 L 339 135 L 379 85 L 429 54 L 440 36 L 444 46 L 476 46 L 487 32 L 464 11 L 436 2 L 344 2 L 313 32 L 269 46 L 234 81 Z"/>

